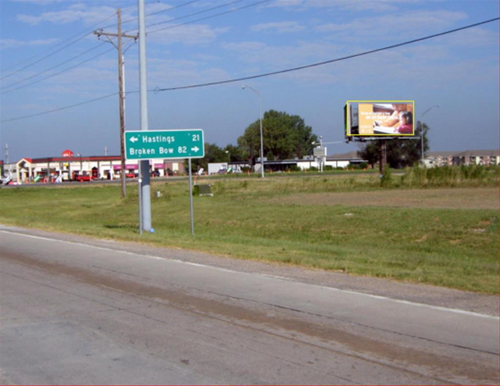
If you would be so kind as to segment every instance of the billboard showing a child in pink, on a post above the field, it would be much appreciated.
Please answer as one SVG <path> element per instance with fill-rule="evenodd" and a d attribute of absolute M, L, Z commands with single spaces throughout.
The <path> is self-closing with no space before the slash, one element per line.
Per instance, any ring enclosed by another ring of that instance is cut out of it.
<path fill-rule="evenodd" d="M 414 101 L 348 100 L 344 107 L 345 135 L 414 135 Z"/>

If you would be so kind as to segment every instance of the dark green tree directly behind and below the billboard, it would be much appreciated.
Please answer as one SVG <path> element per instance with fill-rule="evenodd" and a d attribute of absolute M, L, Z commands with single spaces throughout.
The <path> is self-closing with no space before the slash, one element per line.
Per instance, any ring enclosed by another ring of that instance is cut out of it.
<path fill-rule="evenodd" d="M 411 139 L 387 139 L 386 143 L 386 154 L 387 154 L 387 164 L 392 168 L 400 168 L 406 166 L 413 166 L 421 158 L 421 139 L 420 133 L 423 127 L 423 150 L 424 152 L 429 149 L 429 141 L 427 138 L 427 132 L 429 127 L 420 121 L 416 122 L 415 127 L 415 137 Z M 375 163 L 378 162 L 378 154 L 380 151 L 379 141 L 372 141 L 365 145 L 361 150 L 358 151 L 358 155 L 366 159 L 369 164 L 373 167 Z"/>

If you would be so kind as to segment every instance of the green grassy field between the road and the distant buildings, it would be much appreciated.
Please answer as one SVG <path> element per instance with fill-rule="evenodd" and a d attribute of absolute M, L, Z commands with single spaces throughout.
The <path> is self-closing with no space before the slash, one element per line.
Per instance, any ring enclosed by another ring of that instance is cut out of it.
<path fill-rule="evenodd" d="M 137 234 L 135 184 L 124 199 L 109 185 L 1 189 L 2 222 L 498 293 L 498 171 L 401 187 L 410 172 L 383 189 L 369 174 L 198 179 L 214 196 L 194 197 L 195 236 L 185 180 L 153 183 L 153 234 Z"/>

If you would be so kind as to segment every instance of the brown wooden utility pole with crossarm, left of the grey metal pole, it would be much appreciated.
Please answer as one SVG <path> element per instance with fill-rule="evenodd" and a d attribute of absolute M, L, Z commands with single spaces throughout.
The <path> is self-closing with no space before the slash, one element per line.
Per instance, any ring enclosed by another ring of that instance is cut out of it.
<path fill-rule="evenodd" d="M 128 37 L 136 40 L 137 35 L 126 35 L 121 33 L 121 9 L 116 10 L 118 18 L 118 30 L 117 33 L 103 32 L 102 29 L 95 30 L 93 33 L 100 38 L 100 36 L 106 36 L 107 39 L 114 47 L 118 50 L 118 90 L 119 90 L 119 108 L 120 108 L 120 158 L 121 158 L 121 196 L 126 195 L 125 191 L 125 144 L 123 142 L 123 136 L 125 131 L 125 93 L 123 85 L 123 53 L 122 53 L 122 37 Z M 116 44 L 109 38 L 109 36 L 117 37 Z"/>

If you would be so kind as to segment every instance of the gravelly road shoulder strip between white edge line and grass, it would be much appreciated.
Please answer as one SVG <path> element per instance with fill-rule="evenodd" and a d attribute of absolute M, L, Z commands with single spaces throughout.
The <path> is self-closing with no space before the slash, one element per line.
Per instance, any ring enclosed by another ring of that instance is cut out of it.
<path fill-rule="evenodd" d="M 242 260 L 180 248 L 157 247 L 136 242 L 98 239 L 75 234 L 48 232 L 39 229 L 1 225 L 0 230 L 22 233 L 35 237 L 88 244 L 114 250 L 125 250 L 137 254 L 153 255 L 239 272 L 276 276 L 287 280 L 439 307 L 461 309 L 486 315 L 498 316 L 499 314 L 498 295 L 474 293 L 427 284 L 399 282 L 384 278 L 354 276 L 346 273 L 310 269 L 287 264 Z"/>

